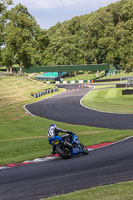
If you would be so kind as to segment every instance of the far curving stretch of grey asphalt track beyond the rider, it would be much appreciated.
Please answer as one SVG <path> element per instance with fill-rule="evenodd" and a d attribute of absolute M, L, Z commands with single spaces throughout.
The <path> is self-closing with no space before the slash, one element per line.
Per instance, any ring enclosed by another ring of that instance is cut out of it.
<path fill-rule="evenodd" d="M 80 104 L 81 98 L 90 88 L 81 88 L 78 85 L 63 85 L 66 91 L 34 104 L 26 105 L 26 109 L 33 115 L 65 122 L 68 124 L 103 127 L 110 129 L 133 129 L 133 114 L 113 114 L 87 109 Z"/>

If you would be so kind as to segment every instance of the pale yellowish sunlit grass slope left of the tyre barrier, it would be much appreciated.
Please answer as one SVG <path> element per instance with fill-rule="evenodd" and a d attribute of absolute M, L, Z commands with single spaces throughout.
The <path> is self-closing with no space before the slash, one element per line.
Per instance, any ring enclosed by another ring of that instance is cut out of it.
<path fill-rule="evenodd" d="M 0 107 L 32 100 L 31 94 L 49 87 L 54 86 L 20 76 L 0 77 Z"/>

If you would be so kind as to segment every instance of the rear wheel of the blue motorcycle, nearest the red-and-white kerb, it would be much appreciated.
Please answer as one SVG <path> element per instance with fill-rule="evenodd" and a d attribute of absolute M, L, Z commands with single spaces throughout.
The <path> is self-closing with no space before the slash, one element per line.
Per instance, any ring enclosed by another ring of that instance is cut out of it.
<path fill-rule="evenodd" d="M 65 147 L 63 144 L 58 144 L 56 146 L 56 151 L 62 158 L 71 158 L 72 156 L 71 149 Z"/>

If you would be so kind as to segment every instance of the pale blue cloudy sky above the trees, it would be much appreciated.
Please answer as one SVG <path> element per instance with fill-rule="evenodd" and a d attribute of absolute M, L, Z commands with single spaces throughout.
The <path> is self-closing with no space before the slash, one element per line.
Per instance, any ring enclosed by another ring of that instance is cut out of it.
<path fill-rule="evenodd" d="M 28 8 L 43 29 L 49 29 L 57 22 L 70 20 L 75 16 L 89 14 L 118 0 L 13 0 Z"/>

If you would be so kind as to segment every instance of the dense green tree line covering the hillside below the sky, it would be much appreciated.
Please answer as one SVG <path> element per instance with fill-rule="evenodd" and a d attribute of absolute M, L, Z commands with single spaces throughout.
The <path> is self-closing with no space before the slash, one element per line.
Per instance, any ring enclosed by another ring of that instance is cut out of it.
<path fill-rule="evenodd" d="M 121 0 L 90 14 L 39 27 L 27 8 L 0 3 L 0 63 L 71 65 L 111 63 L 133 68 L 133 1 Z"/>

